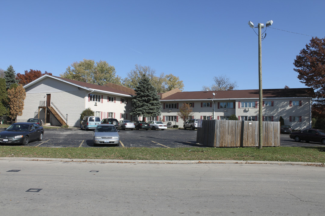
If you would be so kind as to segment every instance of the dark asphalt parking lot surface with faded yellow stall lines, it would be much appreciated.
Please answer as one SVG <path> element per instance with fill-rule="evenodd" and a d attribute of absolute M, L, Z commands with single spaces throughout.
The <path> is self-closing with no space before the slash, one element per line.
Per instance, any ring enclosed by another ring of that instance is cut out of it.
<path fill-rule="evenodd" d="M 183 129 L 167 130 L 121 130 L 120 147 L 147 147 L 147 148 L 176 148 L 176 147 L 207 147 L 196 143 L 197 131 Z M 93 144 L 94 131 L 84 131 L 80 128 L 46 128 L 42 141 L 29 142 L 27 146 L 40 147 L 111 147 L 113 145 Z M 8 145 L 8 144 L 1 144 Z M 313 142 L 295 142 L 289 134 L 280 135 L 280 146 L 323 146 Z"/>

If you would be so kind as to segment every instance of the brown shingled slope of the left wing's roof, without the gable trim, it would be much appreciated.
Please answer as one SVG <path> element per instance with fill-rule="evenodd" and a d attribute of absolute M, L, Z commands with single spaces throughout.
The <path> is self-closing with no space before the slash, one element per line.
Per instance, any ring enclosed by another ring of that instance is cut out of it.
<path fill-rule="evenodd" d="M 126 88 L 124 86 L 121 86 L 121 88 L 113 88 L 113 87 L 110 87 L 110 86 L 96 85 L 96 84 L 85 83 L 85 82 L 81 82 L 81 81 L 77 81 L 77 80 L 66 79 L 66 78 L 62 78 L 62 77 L 59 77 L 59 76 L 54 76 L 54 77 L 65 80 L 67 82 L 70 82 L 70 83 L 73 83 L 73 84 L 76 84 L 76 85 L 86 87 L 86 88 L 98 89 L 98 90 L 101 90 L 101 91 L 114 92 L 114 93 L 118 93 L 118 94 L 130 95 L 130 96 L 135 95 L 135 93 L 132 94 L 132 92 L 134 92 L 133 89 Z M 121 90 L 123 88 L 125 88 L 126 91 Z"/>

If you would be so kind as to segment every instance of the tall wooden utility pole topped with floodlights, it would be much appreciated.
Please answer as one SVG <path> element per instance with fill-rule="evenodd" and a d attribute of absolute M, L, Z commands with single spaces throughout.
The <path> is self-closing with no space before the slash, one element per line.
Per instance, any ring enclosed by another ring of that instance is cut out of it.
<path fill-rule="evenodd" d="M 266 28 L 271 26 L 272 20 L 266 22 Z M 263 104 L 263 90 L 262 90 L 262 28 L 264 28 L 263 23 L 259 23 L 257 27 L 251 21 L 248 21 L 248 25 L 251 28 L 258 28 L 258 92 L 259 92 L 259 104 L 258 104 L 258 148 L 263 147 L 263 114 L 262 114 L 262 104 Z M 265 32 L 265 31 L 264 31 Z M 263 33 L 264 33 L 263 32 Z M 256 32 L 255 32 L 256 33 Z M 266 36 L 266 33 L 265 33 Z M 265 38 L 263 37 L 263 39 Z"/>

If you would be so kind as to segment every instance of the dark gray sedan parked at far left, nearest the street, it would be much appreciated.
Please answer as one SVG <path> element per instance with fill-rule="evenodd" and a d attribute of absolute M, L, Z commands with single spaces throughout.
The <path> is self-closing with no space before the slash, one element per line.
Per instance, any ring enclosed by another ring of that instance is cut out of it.
<path fill-rule="evenodd" d="M 27 145 L 32 140 L 42 140 L 44 129 L 32 122 L 19 122 L 0 132 L 0 143 Z"/>

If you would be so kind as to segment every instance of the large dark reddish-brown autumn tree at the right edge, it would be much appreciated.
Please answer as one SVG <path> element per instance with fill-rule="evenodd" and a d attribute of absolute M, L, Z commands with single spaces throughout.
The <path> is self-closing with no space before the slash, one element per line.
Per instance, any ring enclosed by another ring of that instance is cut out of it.
<path fill-rule="evenodd" d="M 314 88 L 316 99 L 313 100 L 313 117 L 325 115 L 325 38 L 312 38 L 306 48 L 296 56 L 293 70 L 298 72 L 298 79 L 308 87 Z"/>

